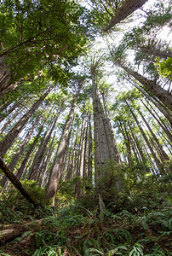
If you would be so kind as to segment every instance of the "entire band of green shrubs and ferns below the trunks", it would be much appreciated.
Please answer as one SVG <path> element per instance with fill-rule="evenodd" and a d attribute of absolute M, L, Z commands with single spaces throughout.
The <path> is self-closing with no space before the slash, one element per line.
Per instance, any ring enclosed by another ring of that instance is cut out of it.
<path fill-rule="evenodd" d="M 9 192 L 9 197 L 8 193 L 3 193 L 3 224 L 37 218 L 43 218 L 43 222 L 30 226 L 21 237 L 3 244 L 0 255 L 171 255 L 171 177 L 146 176 L 135 181 L 129 176 L 130 182 L 124 181 L 120 192 L 114 189 L 114 177 L 117 178 L 117 173 L 108 172 L 106 176 L 105 172 L 94 191 L 84 189 L 84 195 L 77 201 L 73 200 L 74 183 L 61 183 L 56 195 L 56 212 L 46 205 L 44 209 L 33 209 L 15 190 L 13 195 Z M 35 183 L 32 186 L 27 183 L 27 186 L 30 193 L 37 191 L 37 198 L 43 203 L 44 190 Z M 11 251 L 14 247 L 17 253 Z"/>

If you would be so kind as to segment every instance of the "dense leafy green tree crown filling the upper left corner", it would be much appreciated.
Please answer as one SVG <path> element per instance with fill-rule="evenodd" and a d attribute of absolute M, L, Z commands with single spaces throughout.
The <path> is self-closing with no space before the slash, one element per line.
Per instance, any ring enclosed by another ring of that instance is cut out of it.
<path fill-rule="evenodd" d="M 48 68 L 54 79 L 83 52 L 86 36 L 80 17 L 85 9 L 67 1 L 3 1 L 0 55 L 0 95 L 21 80 L 32 80 Z M 54 67 L 56 63 L 56 67 Z"/>

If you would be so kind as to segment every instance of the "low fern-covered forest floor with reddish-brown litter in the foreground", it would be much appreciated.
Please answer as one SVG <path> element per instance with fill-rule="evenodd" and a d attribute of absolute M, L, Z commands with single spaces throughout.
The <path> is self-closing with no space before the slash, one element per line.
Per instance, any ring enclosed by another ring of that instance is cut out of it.
<path fill-rule="evenodd" d="M 172 232 L 167 226 L 172 222 L 169 210 L 163 209 L 149 216 L 126 211 L 115 216 L 106 214 L 103 223 L 94 214 L 86 217 L 68 210 L 57 217 L 33 220 L 29 224 L 21 220 L 9 225 L 8 229 L 18 230 L 20 235 L 7 243 L 2 240 L 0 255 L 169 256 L 172 250 Z M 108 254 L 108 251 L 112 253 Z"/>

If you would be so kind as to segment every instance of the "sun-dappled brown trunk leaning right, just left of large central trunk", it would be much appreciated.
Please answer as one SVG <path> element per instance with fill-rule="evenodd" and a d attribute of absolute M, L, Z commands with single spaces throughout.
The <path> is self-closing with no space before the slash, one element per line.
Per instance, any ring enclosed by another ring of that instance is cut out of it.
<path fill-rule="evenodd" d="M 66 120 L 66 125 L 65 125 L 62 135 L 60 137 L 60 142 L 59 142 L 59 145 L 58 145 L 58 148 L 57 148 L 57 151 L 55 154 L 55 158 L 54 158 L 54 165 L 52 168 L 52 172 L 50 173 L 50 176 L 49 176 L 49 183 L 46 188 L 46 190 L 47 190 L 46 197 L 48 200 L 50 200 L 50 199 L 53 200 L 52 204 L 54 204 L 54 196 L 55 196 L 55 193 L 58 188 L 59 181 L 60 181 L 61 167 L 62 167 L 63 160 L 64 160 L 65 153 L 66 153 L 66 145 L 67 145 L 67 141 L 69 139 L 69 134 L 71 131 L 72 120 L 74 118 L 74 110 L 75 110 L 75 107 L 77 104 L 77 97 L 79 95 L 79 91 L 77 93 L 77 96 L 75 96 L 75 98 L 74 98 L 74 102 L 72 103 L 71 111 Z"/>

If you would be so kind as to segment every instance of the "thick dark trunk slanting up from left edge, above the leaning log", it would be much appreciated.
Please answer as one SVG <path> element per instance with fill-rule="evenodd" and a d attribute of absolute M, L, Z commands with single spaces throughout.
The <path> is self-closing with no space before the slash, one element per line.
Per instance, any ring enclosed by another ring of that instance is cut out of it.
<path fill-rule="evenodd" d="M 18 137 L 20 131 L 23 129 L 24 125 L 26 125 L 28 119 L 31 118 L 32 114 L 35 113 L 36 109 L 43 102 L 45 97 L 48 96 L 50 90 L 51 89 L 47 90 L 43 94 L 43 96 L 41 96 L 40 99 L 33 104 L 32 108 L 26 114 L 24 114 L 24 116 L 17 122 L 17 124 L 14 125 L 14 128 L 11 131 L 9 131 L 9 133 L 5 137 L 3 137 L 3 140 L 0 142 L 0 155 L 2 157 L 3 154 L 5 154 L 12 146 L 15 138 Z"/>

